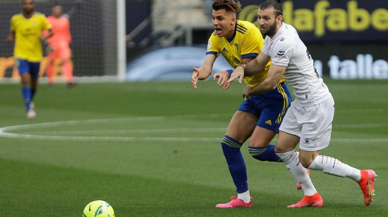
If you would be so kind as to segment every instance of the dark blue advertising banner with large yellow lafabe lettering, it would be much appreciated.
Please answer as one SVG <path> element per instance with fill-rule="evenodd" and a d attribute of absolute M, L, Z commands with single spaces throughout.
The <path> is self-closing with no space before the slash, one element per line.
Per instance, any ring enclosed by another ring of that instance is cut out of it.
<path fill-rule="evenodd" d="M 237 19 L 256 26 L 257 10 L 264 0 L 240 0 Z M 293 25 L 305 42 L 388 40 L 388 1 L 286 0 L 283 21 Z"/>

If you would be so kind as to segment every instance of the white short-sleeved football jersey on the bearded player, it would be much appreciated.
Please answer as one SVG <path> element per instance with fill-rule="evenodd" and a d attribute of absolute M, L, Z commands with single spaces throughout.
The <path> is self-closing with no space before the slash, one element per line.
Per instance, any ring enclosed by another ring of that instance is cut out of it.
<path fill-rule="evenodd" d="M 293 26 L 282 23 L 273 38 L 265 38 L 262 52 L 271 57 L 272 64 L 287 67 L 284 77 L 293 88 L 296 103 L 303 107 L 312 106 L 331 95 Z"/>

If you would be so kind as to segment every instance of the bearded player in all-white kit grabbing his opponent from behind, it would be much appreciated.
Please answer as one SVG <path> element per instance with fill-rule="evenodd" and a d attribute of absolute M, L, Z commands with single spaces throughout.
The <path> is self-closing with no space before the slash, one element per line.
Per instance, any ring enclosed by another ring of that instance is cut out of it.
<path fill-rule="evenodd" d="M 253 75 L 272 60 L 267 78 L 255 87 L 247 86 L 243 97 L 275 89 L 282 75 L 293 88 L 295 100 L 279 128 L 275 152 L 286 163 L 291 175 L 301 184 L 305 196 L 288 207 L 323 205 L 322 197 L 305 168 L 353 179 L 361 187 L 365 205 L 369 205 L 374 196 L 376 173 L 373 170 L 359 170 L 336 158 L 319 155 L 319 150 L 326 148 L 330 142 L 334 99 L 319 77 L 314 61 L 295 28 L 282 22 L 281 2 L 282 0 L 267 0 L 260 5 L 257 16 L 260 31 L 266 35 L 264 47 L 255 59 L 237 66 L 227 82 L 239 78 L 241 83 L 244 73 Z M 299 156 L 295 151 L 298 143 Z"/>

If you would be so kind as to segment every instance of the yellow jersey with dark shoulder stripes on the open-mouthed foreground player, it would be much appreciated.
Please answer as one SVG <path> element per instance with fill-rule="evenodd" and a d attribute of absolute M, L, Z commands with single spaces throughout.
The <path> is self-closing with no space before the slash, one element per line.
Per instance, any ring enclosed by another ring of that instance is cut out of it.
<path fill-rule="evenodd" d="M 248 21 L 236 21 L 236 28 L 230 40 L 225 37 L 218 37 L 214 31 L 209 38 L 206 54 L 214 54 L 218 57 L 220 53 L 236 68 L 242 64 L 242 59 L 248 57 L 256 57 L 260 50 L 264 47 L 264 39 L 260 30 Z M 245 83 L 249 87 L 255 87 L 262 82 L 268 75 L 268 69 L 271 66 L 271 61 L 267 63 L 265 68 L 251 76 L 244 77 Z M 282 77 L 280 82 L 285 81 Z"/>

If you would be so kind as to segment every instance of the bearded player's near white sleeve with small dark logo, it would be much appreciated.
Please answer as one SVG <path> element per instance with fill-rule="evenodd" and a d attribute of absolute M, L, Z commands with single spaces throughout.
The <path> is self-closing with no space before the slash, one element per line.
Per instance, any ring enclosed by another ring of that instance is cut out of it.
<path fill-rule="evenodd" d="M 272 46 L 272 54 L 270 55 L 272 64 L 287 67 L 295 50 L 293 40 L 277 40 Z"/>

